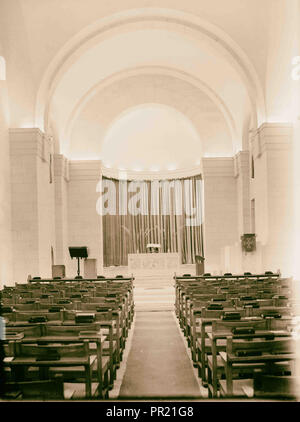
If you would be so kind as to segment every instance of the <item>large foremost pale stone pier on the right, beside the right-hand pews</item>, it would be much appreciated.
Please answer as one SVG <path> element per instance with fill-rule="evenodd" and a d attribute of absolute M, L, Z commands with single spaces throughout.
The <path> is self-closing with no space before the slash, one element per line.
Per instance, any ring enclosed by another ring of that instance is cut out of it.
<path fill-rule="evenodd" d="M 293 248 L 293 127 L 264 123 L 252 134 L 257 240 L 265 270 L 291 275 Z"/>

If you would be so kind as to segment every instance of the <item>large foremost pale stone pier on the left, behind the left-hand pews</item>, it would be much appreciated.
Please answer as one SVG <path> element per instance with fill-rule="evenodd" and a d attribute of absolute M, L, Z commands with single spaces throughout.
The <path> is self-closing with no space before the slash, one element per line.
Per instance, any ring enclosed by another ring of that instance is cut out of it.
<path fill-rule="evenodd" d="M 14 280 L 51 275 L 55 247 L 52 140 L 39 129 L 10 129 Z"/>

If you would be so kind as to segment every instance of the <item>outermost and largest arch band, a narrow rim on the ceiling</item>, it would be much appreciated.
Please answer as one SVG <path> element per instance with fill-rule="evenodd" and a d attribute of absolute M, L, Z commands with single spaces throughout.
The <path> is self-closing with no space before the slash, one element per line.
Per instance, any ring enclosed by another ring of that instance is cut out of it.
<path fill-rule="evenodd" d="M 241 48 L 220 28 L 199 17 L 169 9 L 132 9 L 108 16 L 95 22 L 73 37 L 56 55 L 44 74 L 36 102 L 36 125 L 48 127 L 50 104 L 56 86 L 64 73 L 85 51 L 118 31 L 130 31 L 133 26 L 155 27 L 172 25 L 178 32 L 191 33 L 207 40 L 227 62 L 233 66 L 244 82 L 252 104 L 252 119 L 258 123 L 265 120 L 263 90 L 256 71 Z"/>

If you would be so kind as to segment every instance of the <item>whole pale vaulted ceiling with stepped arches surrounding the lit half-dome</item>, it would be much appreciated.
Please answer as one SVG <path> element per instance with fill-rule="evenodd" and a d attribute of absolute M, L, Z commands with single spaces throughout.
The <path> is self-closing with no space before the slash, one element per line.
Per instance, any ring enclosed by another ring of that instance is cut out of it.
<path fill-rule="evenodd" d="M 4 43 L 22 45 L 8 57 L 22 68 L 8 77 L 12 124 L 53 128 L 70 158 L 80 142 L 93 155 L 120 113 L 154 102 L 189 119 L 203 154 L 233 155 L 264 121 L 271 3 L 86 0 L 80 13 L 73 0 L 4 0 Z"/>

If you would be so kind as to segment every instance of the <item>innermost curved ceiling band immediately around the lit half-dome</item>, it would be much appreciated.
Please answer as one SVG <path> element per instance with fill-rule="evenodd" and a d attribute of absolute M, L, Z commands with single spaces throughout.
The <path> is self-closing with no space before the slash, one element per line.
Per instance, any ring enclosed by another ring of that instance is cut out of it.
<path fill-rule="evenodd" d="M 87 102 L 79 103 L 66 132 L 69 142 L 62 152 L 71 159 L 104 159 L 104 137 L 120 115 L 132 107 L 155 103 L 172 107 L 189 119 L 201 139 L 203 155 L 232 155 L 239 146 L 232 144 L 234 128 L 231 133 L 222 111 L 208 95 L 182 79 L 155 74 L 154 69 L 148 72 L 112 82 Z M 199 158 L 199 149 L 194 152 Z M 195 164 L 193 153 L 190 154 L 191 163 Z"/>

